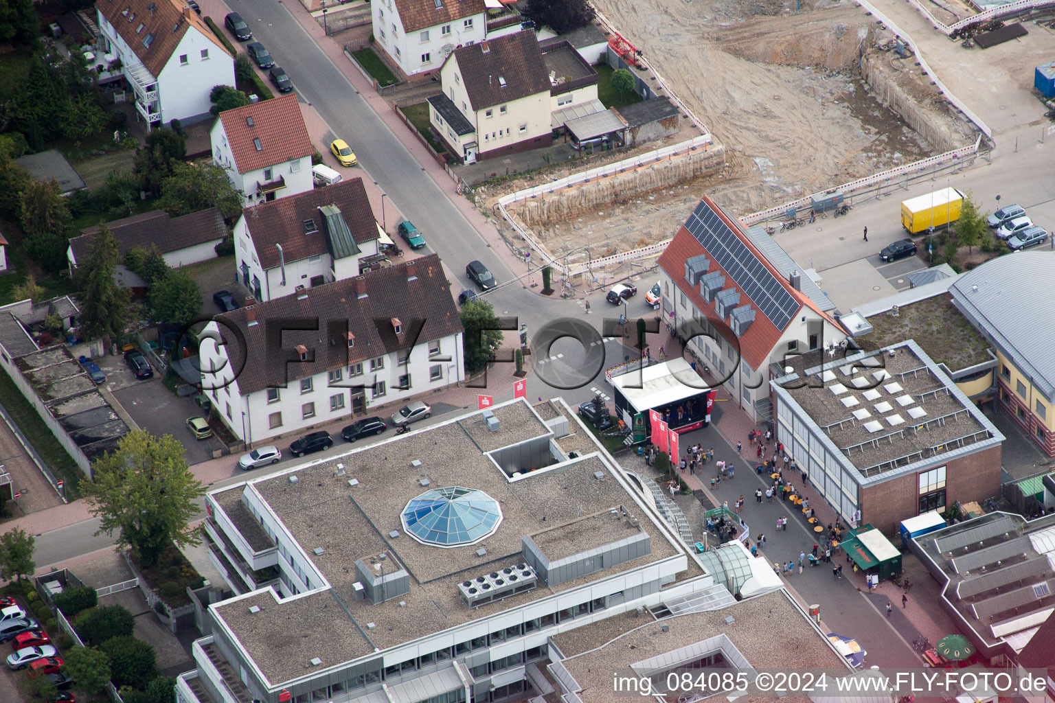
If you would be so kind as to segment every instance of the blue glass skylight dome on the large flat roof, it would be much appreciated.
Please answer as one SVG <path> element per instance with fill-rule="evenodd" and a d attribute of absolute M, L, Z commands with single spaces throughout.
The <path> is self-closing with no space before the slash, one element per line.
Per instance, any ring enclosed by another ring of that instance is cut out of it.
<path fill-rule="evenodd" d="M 403 529 L 418 542 L 463 547 L 494 532 L 502 522 L 498 502 L 473 488 L 429 489 L 406 504 Z"/>

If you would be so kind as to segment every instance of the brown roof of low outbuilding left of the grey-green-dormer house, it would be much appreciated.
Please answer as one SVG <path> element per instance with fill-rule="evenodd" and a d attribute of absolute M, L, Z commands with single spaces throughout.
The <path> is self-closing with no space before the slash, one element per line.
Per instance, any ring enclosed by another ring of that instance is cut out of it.
<path fill-rule="evenodd" d="M 227 236 L 224 215 L 216 208 L 209 208 L 181 217 L 169 217 L 167 212 L 151 210 L 141 215 L 107 222 L 107 229 L 117 239 L 117 251 L 124 256 L 131 249 L 150 249 L 157 245 L 162 254 Z M 74 259 L 80 263 L 88 259 L 92 235 L 99 226 L 81 230 L 83 234 L 70 240 Z"/>

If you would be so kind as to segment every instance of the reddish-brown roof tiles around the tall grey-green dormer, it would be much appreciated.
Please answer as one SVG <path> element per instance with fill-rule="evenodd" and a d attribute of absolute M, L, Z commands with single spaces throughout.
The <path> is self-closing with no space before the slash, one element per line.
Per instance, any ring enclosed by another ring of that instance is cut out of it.
<path fill-rule="evenodd" d="M 325 254 L 328 251 L 326 231 L 319 213 L 323 206 L 335 206 L 341 211 L 357 245 L 378 238 L 378 220 L 366 197 L 363 179 L 349 178 L 243 210 L 261 267 L 273 269 L 281 263 L 276 243 L 282 245 L 287 263 Z M 314 220 L 318 232 L 305 234 L 306 219 Z"/>

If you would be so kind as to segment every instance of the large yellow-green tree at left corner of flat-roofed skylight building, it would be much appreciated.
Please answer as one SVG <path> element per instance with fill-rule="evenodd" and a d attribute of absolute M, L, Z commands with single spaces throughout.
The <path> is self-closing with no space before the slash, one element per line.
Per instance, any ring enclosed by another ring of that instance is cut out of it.
<path fill-rule="evenodd" d="M 152 567 L 170 543 L 197 545 L 202 540 L 188 523 L 197 514 L 194 501 L 204 487 L 184 461 L 184 446 L 172 435 L 155 437 L 134 430 L 117 443 L 117 451 L 92 465 L 92 479 L 81 491 L 99 531 L 119 532 L 118 544 L 131 546 L 140 563 Z"/>

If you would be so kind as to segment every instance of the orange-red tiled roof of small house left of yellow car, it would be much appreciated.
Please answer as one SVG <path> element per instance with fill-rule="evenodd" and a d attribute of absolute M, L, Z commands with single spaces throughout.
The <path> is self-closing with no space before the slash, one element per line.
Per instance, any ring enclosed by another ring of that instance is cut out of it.
<path fill-rule="evenodd" d="M 219 114 L 219 121 L 231 144 L 238 173 L 311 156 L 315 151 L 301 115 L 301 105 L 292 93 L 227 110 Z M 260 139 L 260 149 L 256 139 Z"/>

